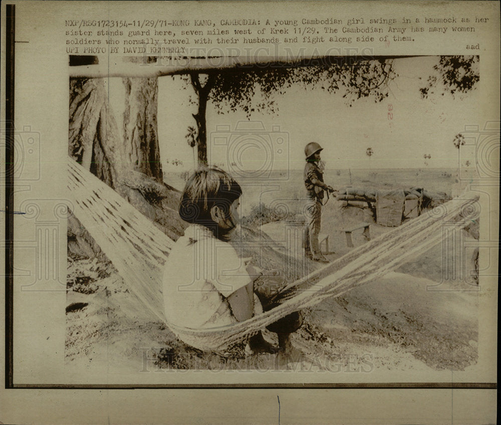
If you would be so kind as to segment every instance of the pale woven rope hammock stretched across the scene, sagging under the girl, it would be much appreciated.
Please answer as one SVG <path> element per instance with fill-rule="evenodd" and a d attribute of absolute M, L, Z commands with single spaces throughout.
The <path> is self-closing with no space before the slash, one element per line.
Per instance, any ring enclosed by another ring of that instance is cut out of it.
<path fill-rule="evenodd" d="M 166 323 L 163 314 L 162 266 L 173 241 L 159 231 L 113 189 L 70 159 L 69 181 L 73 214 L 107 255 L 139 301 Z M 417 258 L 442 240 L 442 226 L 461 229 L 478 216 L 478 195 L 463 193 L 427 214 L 409 221 L 350 251 L 310 275 L 292 282 L 285 290 L 294 295 L 267 312 L 243 322 L 206 329 L 179 328 L 167 323 L 177 335 L 196 339 L 197 347 L 221 351 L 278 319 L 303 308 L 338 297 L 372 282 Z"/>

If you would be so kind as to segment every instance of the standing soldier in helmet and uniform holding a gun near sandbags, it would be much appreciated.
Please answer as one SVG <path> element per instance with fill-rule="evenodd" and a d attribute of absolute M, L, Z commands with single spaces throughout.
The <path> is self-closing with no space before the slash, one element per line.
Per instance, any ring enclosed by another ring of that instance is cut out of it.
<path fill-rule="evenodd" d="M 316 142 L 308 143 L 305 147 L 306 165 L 305 165 L 305 185 L 308 190 L 308 213 L 310 220 L 307 223 L 305 235 L 305 253 L 312 260 L 322 263 L 329 263 L 320 250 L 318 235 L 320 233 L 320 224 L 322 220 L 322 199 L 324 190 L 333 192 L 334 188 L 324 183 L 323 166 L 320 163 L 320 151 L 322 150 Z"/>

